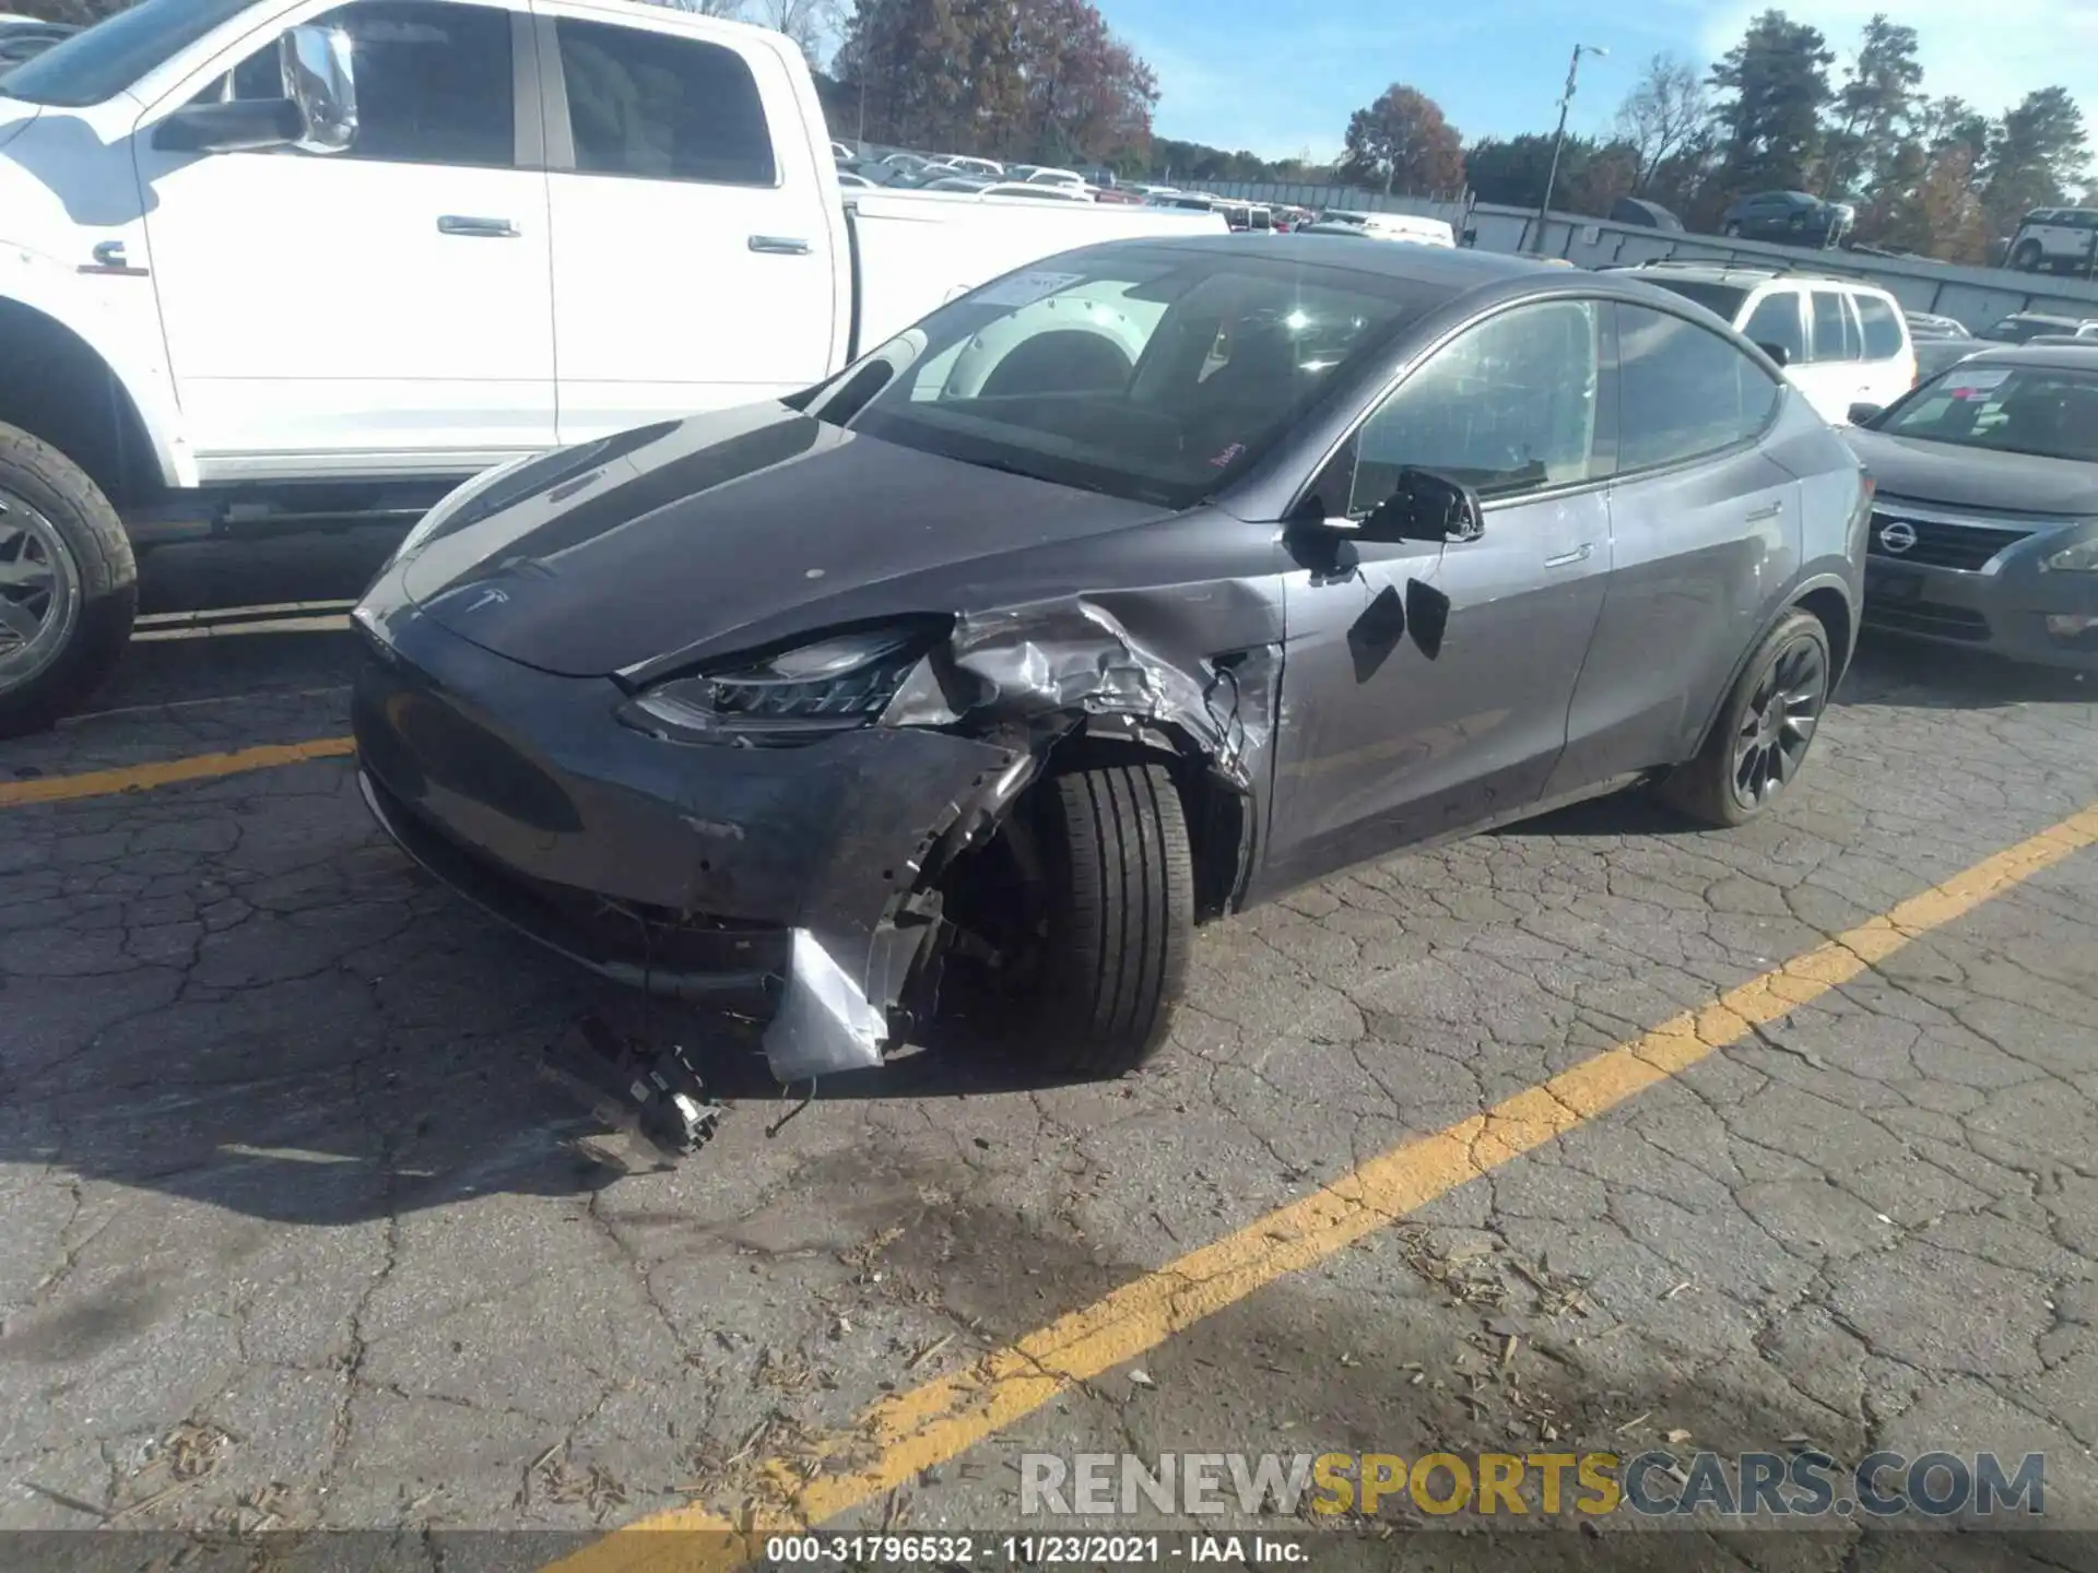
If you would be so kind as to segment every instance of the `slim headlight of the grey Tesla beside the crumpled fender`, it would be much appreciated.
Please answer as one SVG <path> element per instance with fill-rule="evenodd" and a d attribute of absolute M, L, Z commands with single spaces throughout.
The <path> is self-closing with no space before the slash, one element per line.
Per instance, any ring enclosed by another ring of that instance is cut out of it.
<path fill-rule="evenodd" d="M 932 625 L 833 633 L 751 661 L 669 677 L 619 707 L 642 732 L 707 742 L 806 742 L 866 726 L 938 638 Z"/>

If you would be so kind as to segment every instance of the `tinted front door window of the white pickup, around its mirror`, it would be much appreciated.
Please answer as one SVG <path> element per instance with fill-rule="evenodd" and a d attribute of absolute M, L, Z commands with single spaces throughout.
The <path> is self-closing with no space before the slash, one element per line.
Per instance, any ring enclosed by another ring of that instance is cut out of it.
<path fill-rule="evenodd" d="M 357 69 L 357 141 L 336 157 L 382 164 L 516 164 L 510 13 L 445 0 L 357 0 L 321 25 L 350 36 Z M 271 40 L 233 69 L 233 88 L 204 99 L 279 99 Z"/>

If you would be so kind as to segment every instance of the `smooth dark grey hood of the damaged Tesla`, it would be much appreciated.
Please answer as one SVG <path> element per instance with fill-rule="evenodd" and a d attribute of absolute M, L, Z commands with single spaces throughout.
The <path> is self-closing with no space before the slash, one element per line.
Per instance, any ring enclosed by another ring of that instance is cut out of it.
<path fill-rule="evenodd" d="M 804 627 L 967 610 L 950 604 L 961 596 L 1024 600 L 1030 587 L 1007 583 L 1024 570 L 992 560 L 1158 514 L 755 405 L 504 476 L 418 545 L 401 587 L 501 656 L 608 675 Z"/>

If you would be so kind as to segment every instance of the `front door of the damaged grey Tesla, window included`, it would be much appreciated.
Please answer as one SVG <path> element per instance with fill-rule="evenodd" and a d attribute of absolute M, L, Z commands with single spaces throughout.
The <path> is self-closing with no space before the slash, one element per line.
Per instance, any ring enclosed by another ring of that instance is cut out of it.
<path fill-rule="evenodd" d="M 1534 803 L 1609 566 L 1601 304 L 1500 310 L 1429 354 L 1320 480 L 1353 516 L 1401 466 L 1469 480 L 1473 541 L 1353 541 L 1286 587 L 1267 887 Z"/>

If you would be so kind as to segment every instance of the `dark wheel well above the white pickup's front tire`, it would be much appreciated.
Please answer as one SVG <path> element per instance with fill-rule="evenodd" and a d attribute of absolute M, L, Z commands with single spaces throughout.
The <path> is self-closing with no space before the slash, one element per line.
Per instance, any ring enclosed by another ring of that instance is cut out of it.
<path fill-rule="evenodd" d="M 0 422 L 50 443 L 113 503 L 164 489 L 138 407 L 109 363 L 17 300 L 0 300 Z"/>

